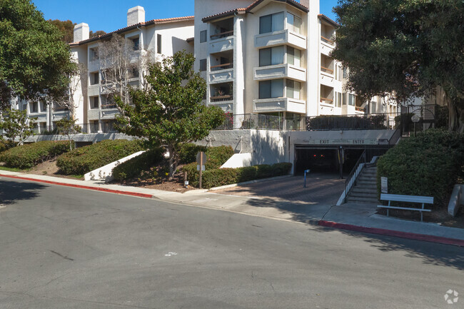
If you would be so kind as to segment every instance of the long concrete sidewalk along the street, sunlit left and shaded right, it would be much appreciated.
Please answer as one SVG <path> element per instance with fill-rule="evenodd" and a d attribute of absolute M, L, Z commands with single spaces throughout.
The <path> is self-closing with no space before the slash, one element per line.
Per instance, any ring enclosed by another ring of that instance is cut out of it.
<path fill-rule="evenodd" d="M 341 206 L 320 205 L 318 203 L 295 203 L 291 201 L 276 201 L 273 198 L 231 196 L 214 191 L 193 190 L 186 193 L 161 191 L 156 189 L 138 188 L 132 186 L 120 186 L 103 183 L 100 181 L 79 181 L 69 178 L 57 178 L 52 176 L 31 175 L 10 171 L 0 171 L 1 177 L 19 178 L 28 181 L 39 181 L 53 185 L 72 186 L 89 190 L 106 191 L 110 193 L 156 198 L 161 201 L 182 203 L 203 208 L 221 209 L 236 213 L 246 213 L 251 216 L 262 216 L 285 221 L 319 225 L 321 222 L 338 223 L 348 225 L 353 231 L 368 233 L 382 233 L 382 231 L 397 231 L 400 237 L 440 242 L 435 238 L 450 238 L 458 240 L 457 244 L 464 246 L 464 230 L 460 228 L 448 228 L 435 223 L 421 223 L 404 221 L 397 218 L 388 218 L 376 215 L 375 205 L 346 203 Z M 334 226 L 336 227 L 336 226 Z M 371 230 L 369 230 L 369 228 Z M 408 237 L 408 233 L 427 237 Z M 393 235 L 385 233 L 385 235 Z M 435 239 L 435 240 L 434 240 Z"/>

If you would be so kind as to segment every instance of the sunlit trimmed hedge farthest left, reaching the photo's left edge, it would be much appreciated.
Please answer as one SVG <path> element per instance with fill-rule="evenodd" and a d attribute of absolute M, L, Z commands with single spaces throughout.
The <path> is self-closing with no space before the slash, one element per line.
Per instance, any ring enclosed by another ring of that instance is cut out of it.
<path fill-rule="evenodd" d="M 39 141 L 16 146 L 0 154 L 9 168 L 31 168 L 69 151 L 69 141 Z"/>

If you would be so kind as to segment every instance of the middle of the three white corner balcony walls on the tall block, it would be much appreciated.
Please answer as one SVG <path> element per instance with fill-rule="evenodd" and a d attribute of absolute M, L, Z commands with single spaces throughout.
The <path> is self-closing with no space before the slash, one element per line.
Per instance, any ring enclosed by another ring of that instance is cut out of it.
<path fill-rule="evenodd" d="M 296 81 L 306 81 L 306 69 L 291 64 L 277 64 L 274 66 L 259 66 L 254 68 L 255 81 L 265 79 L 291 78 Z"/>

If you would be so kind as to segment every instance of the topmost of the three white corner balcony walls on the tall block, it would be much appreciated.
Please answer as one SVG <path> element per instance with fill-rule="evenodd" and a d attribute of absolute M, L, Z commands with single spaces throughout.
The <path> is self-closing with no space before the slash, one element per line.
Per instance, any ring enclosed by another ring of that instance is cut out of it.
<path fill-rule="evenodd" d="M 283 44 L 306 50 L 306 37 L 288 29 L 255 36 L 255 47 L 258 49 Z"/>

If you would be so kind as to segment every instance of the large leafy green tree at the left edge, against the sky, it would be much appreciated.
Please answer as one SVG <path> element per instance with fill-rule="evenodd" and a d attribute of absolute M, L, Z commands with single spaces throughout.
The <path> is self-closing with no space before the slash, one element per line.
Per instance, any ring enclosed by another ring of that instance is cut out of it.
<path fill-rule="evenodd" d="M 0 108 L 11 98 L 65 96 L 76 69 L 61 31 L 28 0 L 0 1 Z"/>

